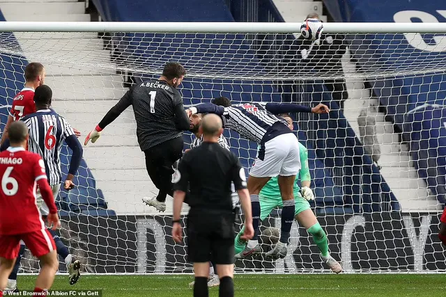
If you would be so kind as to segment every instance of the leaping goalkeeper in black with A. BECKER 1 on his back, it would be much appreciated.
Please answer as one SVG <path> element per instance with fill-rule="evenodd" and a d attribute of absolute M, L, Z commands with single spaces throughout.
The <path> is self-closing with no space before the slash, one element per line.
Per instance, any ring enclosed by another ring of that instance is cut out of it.
<path fill-rule="evenodd" d="M 102 129 L 132 105 L 139 147 L 146 155 L 147 172 L 160 190 L 155 198 L 144 197 L 143 201 L 158 211 L 165 211 L 166 196 L 174 195 L 172 165 L 183 155 L 183 131 L 189 129 L 183 98 L 176 89 L 185 74 L 183 65 L 171 62 L 164 65 L 160 79 L 132 86 L 86 136 L 84 142 L 84 145 L 90 140 L 95 143 Z"/>

